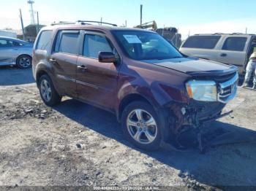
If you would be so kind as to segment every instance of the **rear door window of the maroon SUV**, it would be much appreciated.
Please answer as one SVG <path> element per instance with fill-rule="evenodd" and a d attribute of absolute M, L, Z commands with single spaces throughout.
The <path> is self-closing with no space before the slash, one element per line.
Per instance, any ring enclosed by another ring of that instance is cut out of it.
<path fill-rule="evenodd" d="M 79 31 L 59 31 L 56 39 L 55 52 L 78 55 Z"/>

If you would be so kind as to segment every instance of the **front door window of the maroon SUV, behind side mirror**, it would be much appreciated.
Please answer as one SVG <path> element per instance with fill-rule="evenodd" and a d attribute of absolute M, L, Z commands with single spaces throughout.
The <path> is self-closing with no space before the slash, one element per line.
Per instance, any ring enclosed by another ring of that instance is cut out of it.
<path fill-rule="evenodd" d="M 86 34 L 83 43 L 83 55 L 89 58 L 98 58 L 99 52 L 112 52 L 105 36 Z"/>

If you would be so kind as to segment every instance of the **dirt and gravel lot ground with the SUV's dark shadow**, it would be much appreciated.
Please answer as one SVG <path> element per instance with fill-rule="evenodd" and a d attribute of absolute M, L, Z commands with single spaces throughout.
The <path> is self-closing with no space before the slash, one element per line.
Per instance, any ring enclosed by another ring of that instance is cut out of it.
<path fill-rule="evenodd" d="M 226 109 L 234 119 L 208 128 L 240 143 L 204 155 L 170 147 L 144 152 L 123 139 L 112 114 L 69 98 L 49 108 L 30 70 L 1 68 L 0 186 L 256 187 L 256 92 L 239 88 Z"/>

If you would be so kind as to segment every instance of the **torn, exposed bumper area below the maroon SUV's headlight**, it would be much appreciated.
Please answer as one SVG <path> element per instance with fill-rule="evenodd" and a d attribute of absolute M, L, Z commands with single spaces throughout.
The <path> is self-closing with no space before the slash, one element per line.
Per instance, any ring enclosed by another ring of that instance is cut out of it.
<path fill-rule="evenodd" d="M 176 149 L 190 149 L 198 147 L 200 152 L 203 152 L 205 147 L 202 143 L 202 129 L 207 124 L 221 117 L 225 117 L 233 113 L 233 110 L 222 114 L 222 109 L 225 104 L 211 108 L 206 106 L 179 106 L 173 105 L 170 107 L 170 130 L 173 140 L 173 146 Z M 203 115 L 204 109 L 211 110 L 211 114 Z M 174 116 L 174 117 L 173 117 Z"/>

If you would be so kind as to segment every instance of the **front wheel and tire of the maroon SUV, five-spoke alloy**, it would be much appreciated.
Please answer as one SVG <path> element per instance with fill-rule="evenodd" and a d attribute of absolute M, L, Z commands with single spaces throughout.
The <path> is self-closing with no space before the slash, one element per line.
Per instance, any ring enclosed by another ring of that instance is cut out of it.
<path fill-rule="evenodd" d="M 159 149 L 162 142 L 162 127 L 154 108 L 135 101 L 122 112 L 121 126 L 124 136 L 136 147 L 145 150 Z"/>

